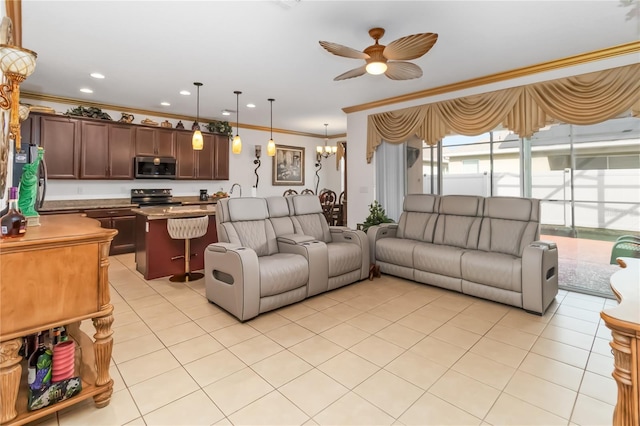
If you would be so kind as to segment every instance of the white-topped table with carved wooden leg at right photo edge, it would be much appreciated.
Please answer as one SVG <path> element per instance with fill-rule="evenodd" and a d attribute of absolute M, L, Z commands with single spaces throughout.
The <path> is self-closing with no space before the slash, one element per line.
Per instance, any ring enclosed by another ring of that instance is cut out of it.
<path fill-rule="evenodd" d="M 618 401 L 613 412 L 615 426 L 638 426 L 640 422 L 640 259 L 618 258 L 624 269 L 611 276 L 618 306 L 600 313 L 611 329 L 614 356 L 613 378 Z M 625 266 L 626 265 L 626 266 Z"/>

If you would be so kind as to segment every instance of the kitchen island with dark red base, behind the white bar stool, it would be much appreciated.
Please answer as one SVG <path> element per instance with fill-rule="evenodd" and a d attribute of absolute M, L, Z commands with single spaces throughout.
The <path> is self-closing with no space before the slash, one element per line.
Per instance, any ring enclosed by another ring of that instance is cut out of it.
<path fill-rule="evenodd" d="M 136 214 L 136 270 L 145 280 L 184 272 L 184 240 L 174 240 L 167 231 L 170 218 L 209 216 L 207 233 L 191 240 L 191 270 L 204 269 L 204 250 L 218 242 L 216 207 L 212 204 L 193 206 L 160 206 L 132 209 Z"/>

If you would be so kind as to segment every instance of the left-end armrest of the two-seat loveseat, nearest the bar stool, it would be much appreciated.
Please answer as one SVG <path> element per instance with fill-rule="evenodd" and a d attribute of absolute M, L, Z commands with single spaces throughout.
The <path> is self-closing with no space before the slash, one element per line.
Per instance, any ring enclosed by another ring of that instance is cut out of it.
<path fill-rule="evenodd" d="M 260 313 L 260 267 L 250 248 L 213 243 L 204 252 L 207 299 L 245 321 Z"/>

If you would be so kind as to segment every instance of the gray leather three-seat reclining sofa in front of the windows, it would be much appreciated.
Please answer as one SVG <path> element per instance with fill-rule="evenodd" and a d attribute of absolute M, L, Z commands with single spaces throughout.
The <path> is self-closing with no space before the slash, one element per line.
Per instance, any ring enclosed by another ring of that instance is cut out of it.
<path fill-rule="evenodd" d="M 530 198 L 407 195 L 397 224 L 367 231 L 384 273 L 544 314 L 558 293 L 555 243 Z"/>

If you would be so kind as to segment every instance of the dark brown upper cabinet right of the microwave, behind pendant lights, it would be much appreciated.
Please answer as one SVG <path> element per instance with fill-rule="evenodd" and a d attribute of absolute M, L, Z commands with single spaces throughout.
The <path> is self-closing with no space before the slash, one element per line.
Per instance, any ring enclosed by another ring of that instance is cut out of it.
<path fill-rule="evenodd" d="M 190 132 L 177 133 L 177 178 L 228 180 L 229 138 L 214 133 L 203 133 L 204 147 L 201 151 L 193 150 L 191 138 Z"/>

